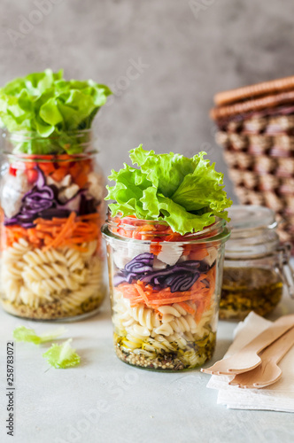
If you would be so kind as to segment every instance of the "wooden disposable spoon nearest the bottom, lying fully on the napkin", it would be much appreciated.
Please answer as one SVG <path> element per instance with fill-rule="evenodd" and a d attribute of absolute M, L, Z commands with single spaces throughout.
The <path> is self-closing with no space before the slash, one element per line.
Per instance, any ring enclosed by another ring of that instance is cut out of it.
<path fill-rule="evenodd" d="M 273 385 L 282 377 L 282 369 L 278 367 L 277 363 L 282 360 L 282 357 L 288 353 L 293 345 L 294 328 L 275 340 L 260 354 L 261 363 L 257 368 L 236 375 L 228 385 L 242 388 L 262 388 Z"/>

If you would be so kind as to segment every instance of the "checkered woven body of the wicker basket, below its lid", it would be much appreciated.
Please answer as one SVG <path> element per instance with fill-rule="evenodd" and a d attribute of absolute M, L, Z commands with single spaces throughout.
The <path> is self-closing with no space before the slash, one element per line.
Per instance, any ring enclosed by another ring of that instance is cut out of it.
<path fill-rule="evenodd" d="M 269 115 L 222 125 L 229 177 L 240 203 L 268 206 L 280 220 L 282 241 L 294 246 L 294 115 Z"/>

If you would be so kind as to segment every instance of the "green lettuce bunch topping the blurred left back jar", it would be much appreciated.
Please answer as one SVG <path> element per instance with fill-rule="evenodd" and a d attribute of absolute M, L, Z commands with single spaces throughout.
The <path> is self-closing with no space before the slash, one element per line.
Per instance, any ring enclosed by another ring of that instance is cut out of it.
<path fill-rule="evenodd" d="M 89 129 L 112 91 L 92 80 L 63 79 L 63 71 L 29 74 L 0 89 L 0 126 L 10 132 L 35 132 L 43 140 L 14 142 L 14 152 L 27 154 L 81 153 L 76 131 Z M 48 139 L 55 137 L 54 142 Z"/>

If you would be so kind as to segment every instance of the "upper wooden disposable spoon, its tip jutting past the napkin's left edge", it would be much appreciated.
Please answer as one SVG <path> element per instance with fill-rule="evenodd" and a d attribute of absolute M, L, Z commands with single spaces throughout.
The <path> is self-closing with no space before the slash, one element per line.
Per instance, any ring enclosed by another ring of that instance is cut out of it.
<path fill-rule="evenodd" d="M 206 374 L 231 376 L 254 369 L 261 363 L 258 354 L 293 326 L 294 315 L 283 315 L 236 354 L 217 361 L 210 368 L 201 371 Z"/>

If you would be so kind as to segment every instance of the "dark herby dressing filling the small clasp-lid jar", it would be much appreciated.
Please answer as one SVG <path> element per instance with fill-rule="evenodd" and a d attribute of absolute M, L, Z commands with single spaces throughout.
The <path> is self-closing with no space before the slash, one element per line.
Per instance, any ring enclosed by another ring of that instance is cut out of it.
<path fill-rule="evenodd" d="M 254 311 L 269 314 L 282 299 L 282 278 L 269 268 L 225 267 L 220 319 L 243 320 Z"/>

